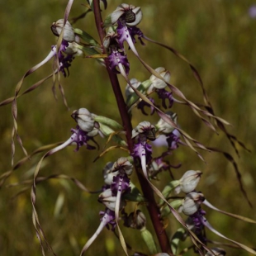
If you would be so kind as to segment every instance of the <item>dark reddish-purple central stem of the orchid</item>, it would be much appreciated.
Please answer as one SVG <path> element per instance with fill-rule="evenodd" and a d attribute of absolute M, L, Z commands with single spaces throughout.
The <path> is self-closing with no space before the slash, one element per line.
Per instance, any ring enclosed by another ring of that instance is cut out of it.
<path fill-rule="evenodd" d="M 102 14 L 101 14 L 99 2 L 100 2 L 99 0 L 93 0 L 93 8 L 94 8 L 94 17 L 95 17 L 95 23 L 97 26 L 97 32 L 98 32 L 98 35 L 100 36 L 101 44 L 103 45 L 103 39 L 106 36 L 106 32 L 104 31 L 102 26 L 103 22 L 102 22 Z M 102 54 L 103 55 L 106 54 L 106 50 L 104 49 L 103 46 L 102 46 Z M 120 84 L 116 76 L 116 73 L 112 73 L 111 69 L 109 69 L 107 59 L 105 59 L 105 64 L 107 67 L 108 76 L 111 81 L 111 86 L 116 97 L 116 103 L 120 112 L 122 124 L 123 124 L 124 130 L 126 130 L 126 140 L 127 140 L 128 148 L 130 150 L 130 153 L 132 153 L 134 148 L 134 141 L 131 139 L 132 126 L 130 122 L 130 116 L 128 114 L 128 108 L 126 106 L 126 102 L 122 95 Z M 173 255 L 172 249 L 170 248 L 168 235 L 165 232 L 164 225 L 159 218 L 160 212 L 159 212 L 159 207 L 157 206 L 157 203 L 154 200 L 154 192 L 152 188 L 149 186 L 149 183 L 144 178 L 144 175 L 141 173 L 140 168 L 136 167 L 136 173 L 139 178 L 141 190 L 144 194 L 144 197 L 148 201 L 147 208 L 149 211 L 149 216 L 154 226 L 155 234 L 159 239 L 159 245 L 162 249 L 162 252 Z"/>

